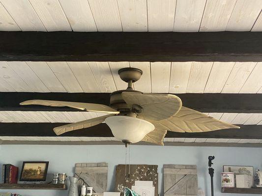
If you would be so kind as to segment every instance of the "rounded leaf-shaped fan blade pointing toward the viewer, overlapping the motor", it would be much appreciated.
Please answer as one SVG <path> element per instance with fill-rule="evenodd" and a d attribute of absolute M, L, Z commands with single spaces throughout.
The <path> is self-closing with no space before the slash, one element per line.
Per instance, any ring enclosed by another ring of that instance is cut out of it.
<path fill-rule="evenodd" d="M 182 101 L 175 95 L 153 94 L 139 92 L 123 92 L 122 98 L 132 108 L 133 105 L 141 106 L 140 117 L 160 121 L 174 116 L 181 108 Z"/>

